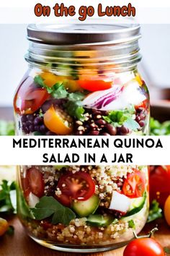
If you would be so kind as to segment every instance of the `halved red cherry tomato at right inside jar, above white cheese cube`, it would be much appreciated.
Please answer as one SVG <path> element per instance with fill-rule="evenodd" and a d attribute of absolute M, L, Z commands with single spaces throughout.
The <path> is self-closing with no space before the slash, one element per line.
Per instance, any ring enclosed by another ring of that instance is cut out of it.
<path fill-rule="evenodd" d="M 146 179 L 140 171 L 128 174 L 122 186 L 123 193 L 130 198 L 142 197 L 145 191 Z"/>

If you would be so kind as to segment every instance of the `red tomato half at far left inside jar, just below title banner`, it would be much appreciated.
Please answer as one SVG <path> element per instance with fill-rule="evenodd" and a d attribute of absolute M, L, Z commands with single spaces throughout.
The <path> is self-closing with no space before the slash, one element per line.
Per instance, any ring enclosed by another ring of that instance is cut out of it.
<path fill-rule="evenodd" d="M 22 182 L 22 186 L 23 184 L 24 186 L 27 186 L 27 189 L 24 190 L 26 191 L 26 193 L 30 191 L 37 197 L 42 197 L 42 195 L 44 195 L 45 184 L 44 184 L 43 176 L 42 176 L 42 173 L 37 168 L 32 167 L 28 169 L 25 179 L 26 180 L 24 181 L 24 183 Z M 23 189 L 25 188 L 23 187 Z"/>

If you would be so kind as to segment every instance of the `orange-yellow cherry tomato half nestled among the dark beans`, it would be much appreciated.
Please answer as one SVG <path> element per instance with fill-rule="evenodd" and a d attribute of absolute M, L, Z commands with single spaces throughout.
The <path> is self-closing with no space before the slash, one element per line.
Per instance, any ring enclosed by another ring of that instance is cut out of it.
<path fill-rule="evenodd" d="M 44 114 L 45 126 L 57 135 L 70 135 L 73 131 L 72 118 L 61 108 L 51 106 Z"/>

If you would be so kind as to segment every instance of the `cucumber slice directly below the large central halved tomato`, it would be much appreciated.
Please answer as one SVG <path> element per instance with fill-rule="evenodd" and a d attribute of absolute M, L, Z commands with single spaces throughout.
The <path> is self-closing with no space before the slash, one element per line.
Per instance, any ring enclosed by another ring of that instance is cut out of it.
<path fill-rule="evenodd" d="M 86 217 L 97 210 L 99 202 L 99 197 L 92 195 L 92 197 L 86 201 L 73 202 L 72 208 L 80 217 Z"/>

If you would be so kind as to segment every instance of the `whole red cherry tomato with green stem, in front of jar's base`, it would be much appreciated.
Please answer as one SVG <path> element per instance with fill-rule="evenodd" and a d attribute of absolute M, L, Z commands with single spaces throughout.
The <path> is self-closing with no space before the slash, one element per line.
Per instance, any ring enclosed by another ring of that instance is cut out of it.
<path fill-rule="evenodd" d="M 164 256 L 161 244 L 152 238 L 135 239 L 125 247 L 123 256 Z"/>

